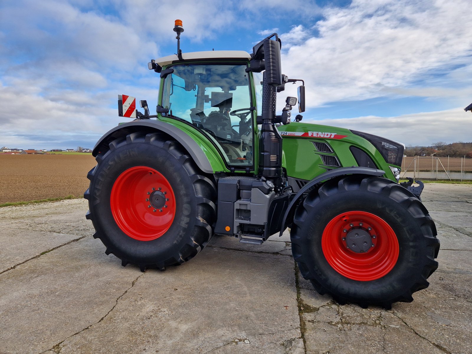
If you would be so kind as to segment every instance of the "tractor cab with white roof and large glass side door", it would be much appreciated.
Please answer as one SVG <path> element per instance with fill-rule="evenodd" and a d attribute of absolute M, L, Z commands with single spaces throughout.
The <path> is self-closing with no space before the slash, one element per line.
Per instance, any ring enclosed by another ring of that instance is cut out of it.
<path fill-rule="evenodd" d="M 246 72 L 249 54 L 185 53 L 177 63 L 175 56 L 170 63 L 167 58 L 156 60 L 166 66 L 161 71 L 158 106 L 162 117 L 183 120 L 203 132 L 219 147 L 229 166 L 252 166 L 257 106 L 254 97 L 261 86 L 252 87 L 251 74 Z M 228 62 L 215 62 L 213 58 Z"/>

